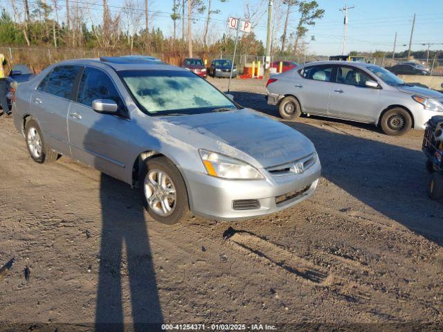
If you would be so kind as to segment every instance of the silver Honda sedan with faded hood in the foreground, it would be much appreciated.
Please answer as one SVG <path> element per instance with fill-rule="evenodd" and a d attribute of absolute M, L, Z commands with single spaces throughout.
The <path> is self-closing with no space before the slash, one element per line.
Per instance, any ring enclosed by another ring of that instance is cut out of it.
<path fill-rule="evenodd" d="M 162 62 L 60 62 L 19 84 L 12 112 L 37 163 L 69 156 L 138 187 L 163 223 L 278 212 L 311 196 L 320 176 L 301 133 Z"/>

